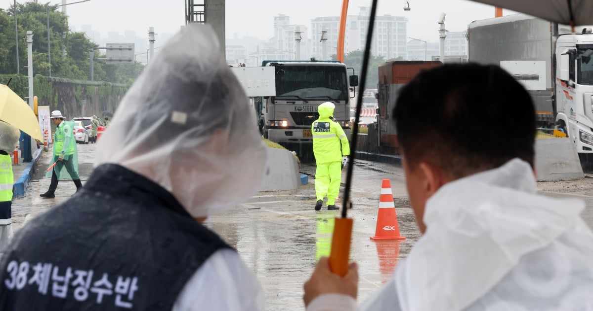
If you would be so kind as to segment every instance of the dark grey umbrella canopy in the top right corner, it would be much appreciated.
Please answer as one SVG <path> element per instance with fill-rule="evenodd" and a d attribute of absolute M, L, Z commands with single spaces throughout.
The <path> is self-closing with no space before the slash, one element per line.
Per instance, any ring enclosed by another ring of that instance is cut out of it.
<path fill-rule="evenodd" d="M 472 0 L 564 25 L 593 25 L 591 0 Z M 570 21 L 573 21 L 571 24 Z"/>

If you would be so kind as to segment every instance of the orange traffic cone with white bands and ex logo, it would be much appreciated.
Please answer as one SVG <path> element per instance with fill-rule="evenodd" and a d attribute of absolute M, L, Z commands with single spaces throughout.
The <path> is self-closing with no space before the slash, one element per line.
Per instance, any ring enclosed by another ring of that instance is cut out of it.
<path fill-rule="evenodd" d="M 379 200 L 379 215 L 377 216 L 377 229 L 372 240 L 380 239 L 406 239 L 400 235 L 400 226 L 397 225 L 396 206 L 393 204 L 391 182 L 383 180 L 381 199 Z"/>

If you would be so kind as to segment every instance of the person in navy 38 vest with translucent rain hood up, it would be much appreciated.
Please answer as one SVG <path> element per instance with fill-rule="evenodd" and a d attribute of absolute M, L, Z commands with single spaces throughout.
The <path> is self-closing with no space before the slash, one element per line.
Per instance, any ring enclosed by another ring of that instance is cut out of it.
<path fill-rule="evenodd" d="M 122 99 L 84 188 L 9 245 L 0 309 L 263 310 L 254 274 L 201 223 L 253 196 L 265 162 L 212 28 L 187 25 Z M 61 283 L 31 281 L 46 266 Z"/>

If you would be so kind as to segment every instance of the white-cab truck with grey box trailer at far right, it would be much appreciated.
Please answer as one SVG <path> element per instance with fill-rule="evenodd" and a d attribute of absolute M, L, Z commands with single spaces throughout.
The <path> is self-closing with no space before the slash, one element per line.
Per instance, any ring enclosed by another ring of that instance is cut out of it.
<path fill-rule="evenodd" d="M 469 60 L 497 64 L 527 88 L 538 127 L 562 129 L 581 156 L 593 153 L 593 34 L 524 14 L 474 21 Z M 504 92 L 504 90 L 500 90 Z M 509 107 L 512 114 L 512 107 Z"/>

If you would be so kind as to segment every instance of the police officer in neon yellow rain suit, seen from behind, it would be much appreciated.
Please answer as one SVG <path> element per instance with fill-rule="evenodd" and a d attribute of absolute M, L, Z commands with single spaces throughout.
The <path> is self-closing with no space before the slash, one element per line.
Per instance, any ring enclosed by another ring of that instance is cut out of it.
<path fill-rule="evenodd" d="M 315 210 L 320 210 L 327 195 L 327 209 L 340 209 L 336 198 L 340 192 L 342 163 L 350 155 L 350 145 L 346 133 L 333 118 L 336 106 L 331 102 L 319 105 L 319 119 L 311 125 L 313 132 L 313 153 L 317 170 L 315 171 Z"/>

